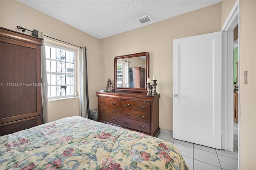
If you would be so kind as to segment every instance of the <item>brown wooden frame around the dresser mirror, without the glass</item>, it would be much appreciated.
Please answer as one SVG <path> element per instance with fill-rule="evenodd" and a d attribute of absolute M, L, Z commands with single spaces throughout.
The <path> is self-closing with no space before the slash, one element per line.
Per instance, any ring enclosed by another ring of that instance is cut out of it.
<path fill-rule="evenodd" d="M 132 58 L 132 57 L 140 57 L 140 56 L 146 56 L 145 60 L 145 88 L 124 88 L 124 87 L 116 87 L 117 86 L 117 60 L 118 59 L 126 59 L 126 58 Z M 149 54 L 148 52 L 142 52 L 142 53 L 135 53 L 135 54 L 129 54 L 129 55 L 121 55 L 116 56 L 114 59 L 114 90 L 116 91 L 128 91 L 128 92 L 147 92 L 146 82 L 147 78 L 149 76 Z"/>

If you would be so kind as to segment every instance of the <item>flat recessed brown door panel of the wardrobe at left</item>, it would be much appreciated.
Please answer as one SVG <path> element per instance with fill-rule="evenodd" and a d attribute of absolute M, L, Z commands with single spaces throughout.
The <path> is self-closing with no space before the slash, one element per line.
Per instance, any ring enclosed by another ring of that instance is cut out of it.
<path fill-rule="evenodd" d="M 35 55 L 35 49 L 1 42 L 1 118 L 37 111 Z"/>

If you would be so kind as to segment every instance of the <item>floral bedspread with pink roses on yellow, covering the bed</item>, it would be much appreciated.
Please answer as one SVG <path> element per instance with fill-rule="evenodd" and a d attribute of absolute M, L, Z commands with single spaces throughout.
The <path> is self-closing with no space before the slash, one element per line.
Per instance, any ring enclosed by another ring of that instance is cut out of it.
<path fill-rule="evenodd" d="M 1 170 L 186 170 L 172 144 L 80 116 L 0 137 Z"/>

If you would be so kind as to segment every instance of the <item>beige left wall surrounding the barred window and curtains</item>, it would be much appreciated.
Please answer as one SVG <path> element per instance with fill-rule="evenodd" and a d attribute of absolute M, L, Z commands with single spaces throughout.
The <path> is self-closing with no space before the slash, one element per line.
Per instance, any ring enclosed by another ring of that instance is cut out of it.
<path fill-rule="evenodd" d="M 44 35 L 66 41 L 78 46 L 86 46 L 88 61 L 88 91 L 90 108 L 97 107 L 96 91 L 104 86 L 105 81 L 102 79 L 104 72 L 104 63 L 100 57 L 100 40 L 84 33 L 70 25 L 58 21 L 50 16 L 38 12 L 18 1 L 0 1 L 0 26 L 15 31 L 16 26 L 22 26 L 27 29 L 37 29 L 44 32 Z M 21 31 L 20 31 L 21 32 Z M 26 32 L 25 32 L 26 33 Z M 30 32 L 27 32 L 31 35 Z M 97 83 L 95 83 L 97 82 Z M 79 89 L 78 89 L 79 90 Z M 69 101 L 69 100 L 68 100 Z M 76 100 L 75 100 L 76 101 Z M 66 115 L 78 115 L 78 109 L 68 109 L 78 107 L 77 102 L 67 102 L 60 100 L 58 102 L 49 103 L 50 120 L 65 117 Z M 58 110 L 60 115 L 54 118 Z"/>

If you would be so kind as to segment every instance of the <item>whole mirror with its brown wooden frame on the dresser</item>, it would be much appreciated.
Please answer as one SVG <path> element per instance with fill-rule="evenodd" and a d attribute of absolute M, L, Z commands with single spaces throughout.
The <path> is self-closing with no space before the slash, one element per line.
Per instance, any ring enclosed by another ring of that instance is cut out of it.
<path fill-rule="evenodd" d="M 148 52 L 117 56 L 114 59 L 114 66 L 115 90 L 147 92 Z"/>

